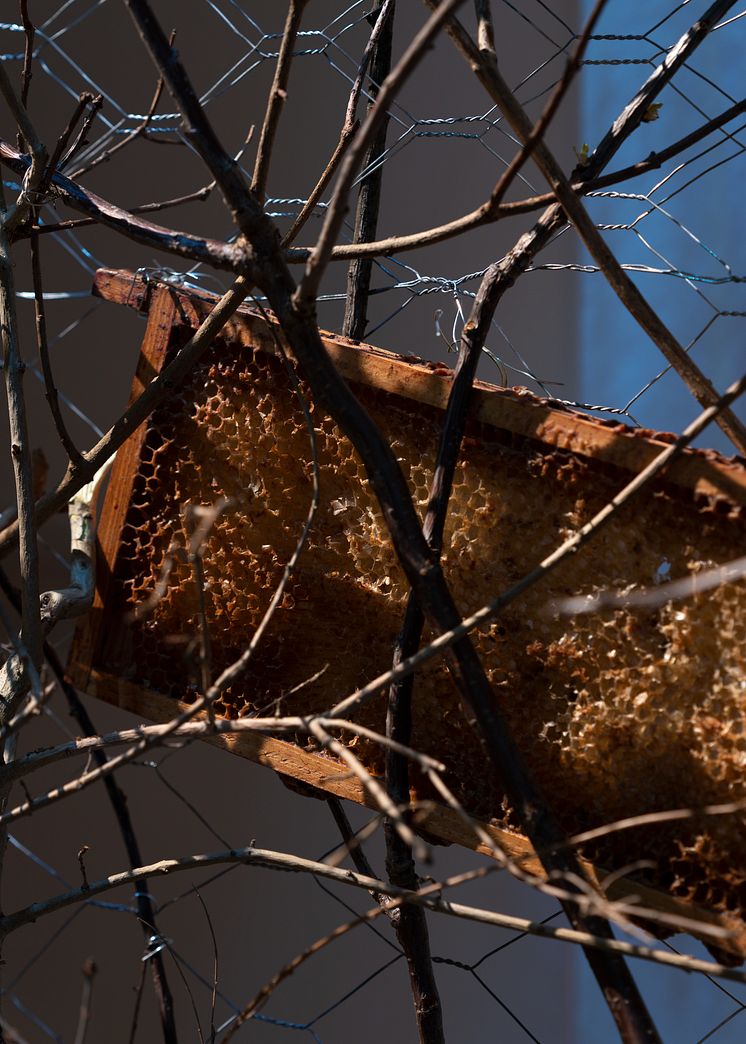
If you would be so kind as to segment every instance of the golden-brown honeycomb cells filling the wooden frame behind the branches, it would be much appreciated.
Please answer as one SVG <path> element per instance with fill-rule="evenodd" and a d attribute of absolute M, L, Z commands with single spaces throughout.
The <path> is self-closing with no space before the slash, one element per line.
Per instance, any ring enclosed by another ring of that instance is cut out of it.
<path fill-rule="evenodd" d="M 170 350 L 188 333 L 174 328 Z M 362 383 L 355 390 L 424 513 L 441 411 Z M 305 394 L 321 503 L 255 660 L 218 701 L 217 713 L 228 718 L 327 710 L 388 668 L 403 618 L 408 587 L 364 469 Z M 628 480 L 629 472 L 592 456 L 472 423 L 442 555 L 461 613 L 522 577 Z M 148 422 L 106 594 L 115 625 L 105 630 L 96 665 L 143 690 L 194 698 L 199 599 L 184 552 L 188 506 L 228 501 L 202 546 L 217 675 L 262 619 L 311 492 L 309 433 L 282 361 L 230 337 L 216 342 Z M 650 587 L 664 573 L 677 578 L 743 554 L 742 511 L 736 500 L 660 480 L 475 635 L 495 698 L 569 834 L 746 797 L 744 580 L 656 608 L 571 617 L 554 608 L 571 595 Z M 152 601 L 166 566 L 163 596 L 133 619 Z M 383 731 L 383 695 L 358 719 Z M 344 741 L 372 774 L 382 773 L 380 748 Z M 310 744 L 305 736 L 296 742 Z M 449 785 L 471 813 L 518 829 L 440 661 L 416 677 L 412 744 L 444 762 Z M 414 799 L 433 797 L 422 778 L 412 787 Z M 641 861 L 647 883 L 716 910 L 746 912 L 742 815 L 628 830 L 584 854 L 608 870 Z"/>

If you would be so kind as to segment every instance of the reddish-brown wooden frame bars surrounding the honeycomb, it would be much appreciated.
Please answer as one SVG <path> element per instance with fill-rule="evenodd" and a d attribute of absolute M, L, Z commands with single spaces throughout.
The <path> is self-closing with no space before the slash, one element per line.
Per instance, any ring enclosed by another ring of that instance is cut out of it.
<path fill-rule="evenodd" d="M 172 327 L 196 327 L 215 300 L 210 294 L 182 288 L 171 288 L 168 296 L 153 295 L 152 291 L 151 282 L 131 272 L 101 270 L 96 276 L 96 293 L 109 301 L 148 312 L 134 395 L 139 394 L 152 375 L 160 372 Z M 152 302 L 157 304 L 151 308 Z M 223 336 L 237 345 L 251 346 L 267 353 L 275 352 L 275 334 L 270 332 L 265 318 L 249 309 L 236 313 Z M 348 380 L 374 385 L 431 406 L 444 407 L 450 390 L 451 371 L 448 367 L 402 358 L 368 346 L 360 348 L 332 334 L 323 336 L 323 343 Z M 473 409 L 478 420 L 496 428 L 629 472 L 642 470 L 666 445 L 665 438 L 649 432 L 632 432 L 621 425 L 552 408 L 528 394 L 516 395 L 480 383 L 475 387 Z M 114 622 L 106 612 L 106 578 L 114 568 L 145 429 L 145 425 L 139 429 L 117 456 L 99 526 L 102 568 L 98 571 L 98 611 L 78 628 L 70 659 L 70 675 L 77 687 L 92 695 L 151 720 L 166 721 L 174 713 L 172 698 L 131 685 L 119 674 L 109 671 L 100 662 L 103 636 Z M 671 468 L 668 478 L 711 500 L 746 504 L 746 472 L 717 455 L 682 455 Z M 210 741 L 329 793 L 369 804 L 361 784 L 350 778 L 344 765 L 303 751 L 293 743 L 254 733 L 213 736 Z M 429 833 L 443 840 L 468 848 L 480 847 L 462 820 L 446 807 L 436 806 L 429 810 L 423 825 Z M 485 829 L 527 870 L 540 873 L 538 861 L 524 837 L 501 830 L 494 824 L 486 824 Z M 630 893 L 639 896 L 645 905 L 661 911 L 689 919 L 694 916 L 707 923 L 723 923 L 725 920 L 708 911 L 693 910 L 690 904 L 646 888 L 639 882 L 617 879 L 609 888 L 611 898 Z M 730 921 L 727 924 L 733 929 Z M 740 922 L 736 927 L 739 934 L 733 936 L 728 948 L 737 953 L 746 952 L 746 931 Z"/>

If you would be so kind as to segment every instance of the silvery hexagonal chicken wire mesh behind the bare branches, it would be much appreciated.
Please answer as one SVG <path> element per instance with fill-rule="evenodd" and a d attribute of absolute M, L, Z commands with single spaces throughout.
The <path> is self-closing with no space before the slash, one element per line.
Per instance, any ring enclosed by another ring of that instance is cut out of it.
<path fill-rule="evenodd" d="M 115 0 L 29 5 L 37 26 L 31 113 L 53 140 L 81 91 L 100 95 L 103 105 L 88 128 L 87 142 L 64 165 L 65 171 L 103 196 L 115 194 L 117 201 L 125 206 L 193 193 L 204 184 L 204 174 L 179 115 L 169 111 L 165 93 L 158 111 L 148 115 L 155 76 L 120 6 Z M 251 127 L 261 125 L 282 41 L 285 5 L 195 0 L 188 5 L 188 13 L 176 3 L 160 7 L 164 23 L 171 19 L 176 27 L 177 44 L 194 74 L 206 111 L 250 179 L 255 146 L 254 142 L 247 143 L 247 137 Z M 617 0 L 607 5 L 584 56 L 576 91 L 567 102 L 571 115 L 550 135 L 565 169 L 582 164 L 649 73 L 671 56 L 681 33 L 704 7 L 694 0 L 650 5 Z M 494 11 L 499 53 L 500 42 L 507 42 L 500 56 L 504 56 L 509 70 L 510 86 L 536 118 L 562 75 L 586 11 L 576 3 L 549 5 L 540 0 L 521 4 L 496 0 Z M 657 108 L 651 106 L 649 120 L 622 148 L 615 169 L 649 160 L 655 152 L 684 141 L 726 110 L 739 106 L 743 95 L 739 55 L 746 45 L 745 15 L 733 9 L 713 29 L 696 56 L 677 72 Z M 287 113 L 265 207 L 283 232 L 306 205 L 310 188 L 338 136 L 369 37 L 370 16 L 370 3 L 365 0 L 348 4 L 318 0 L 308 7 L 297 38 Z M 401 52 L 413 28 L 422 22 L 422 15 L 408 8 L 398 10 L 395 17 L 395 47 Z M 471 13 L 464 15 L 466 20 L 468 17 Z M 24 40 L 21 24 L 0 23 L 0 57 L 16 79 L 23 62 Z M 374 93 L 375 85 L 366 81 L 364 98 L 370 99 Z M 660 166 L 651 163 L 650 169 L 619 186 L 592 191 L 586 196 L 591 215 L 625 270 L 719 387 L 736 376 L 736 369 L 743 363 L 739 348 L 743 328 L 735 321 L 746 316 L 746 247 L 738 222 L 745 113 L 746 106 L 741 106 L 722 125 L 682 146 Z M 383 173 L 384 200 L 378 231 L 382 239 L 426 230 L 478 206 L 488 196 L 518 144 L 505 119 L 481 93 L 479 85 L 467 78 L 444 41 L 424 64 L 422 74 L 407 85 L 389 116 L 386 148 L 360 172 L 356 183 L 359 185 L 375 169 Z M 113 146 L 124 144 L 126 147 L 106 159 Z M 6 193 L 13 195 L 21 190 L 18 181 L 6 176 Z M 313 243 L 331 191 L 328 188 L 315 205 L 298 245 Z M 510 198 L 545 191 L 538 171 L 529 164 L 516 180 Z M 203 196 L 174 210 L 176 218 L 166 210 L 165 214 L 153 215 L 153 219 L 182 221 L 184 227 L 196 227 L 206 234 L 232 237 L 235 230 L 215 198 L 216 193 L 206 191 Z M 535 211 L 535 215 L 538 213 L 540 210 Z M 44 223 L 65 217 L 67 214 L 53 203 L 42 209 Z M 414 350 L 427 357 L 452 352 L 484 271 L 530 227 L 533 217 L 529 213 L 507 220 L 507 233 L 502 224 L 487 227 L 471 233 L 465 242 L 423 244 L 412 252 L 377 258 L 366 339 L 403 353 Z M 340 241 L 352 242 L 353 231 L 351 217 Z M 44 239 L 51 274 L 51 279 L 47 277 L 45 300 L 50 306 L 52 361 L 75 437 L 86 445 L 92 434 L 101 434 L 113 409 L 97 387 L 81 387 L 81 375 L 74 363 L 71 365 L 70 360 L 77 358 L 83 360 L 85 366 L 90 349 L 78 356 L 68 352 L 71 343 L 87 338 L 96 341 L 97 351 L 105 350 L 102 336 L 113 336 L 109 333 L 111 321 L 101 317 L 101 308 L 92 304 L 89 295 L 95 269 L 130 264 L 177 285 L 209 289 L 227 282 L 200 264 L 179 266 L 174 258 L 165 255 L 143 258 L 141 250 L 123 245 L 105 230 L 66 229 Z M 22 309 L 33 299 L 27 279 L 21 262 L 18 296 Z M 341 326 L 345 280 L 346 265 L 337 262 L 319 296 L 322 324 L 332 329 Z M 636 332 L 612 300 L 602 285 L 598 266 L 585 257 L 569 227 L 555 234 L 524 282 L 525 291 L 522 283 L 521 292 L 529 296 L 520 298 L 515 306 L 508 303 L 505 313 L 499 312 L 494 323 L 485 350 L 484 376 L 527 384 L 563 404 L 620 414 L 631 424 L 681 427 L 681 418 L 694 408 L 688 393 L 679 389 L 670 367 L 661 365 L 654 347 Z M 540 327 L 532 326 L 536 317 L 528 315 L 529 311 L 544 312 Z M 131 341 L 135 321 L 127 318 L 122 325 L 124 337 Z M 544 331 L 544 342 L 536 335 L 539 329 Z M 126 371 L 123 363 L 120 366 Z M 41 385 L 43 375 L 38 360 L 29 369 Z M 110 378 L 105 367 L 103 372 L 105 383 L 113 384 L 114 376 Z M 126 382 L 122 384 L 125 386 Z M 113 395 L 115 401 L 120 401 L 124 393 L 118 387 Z M 41 417 L 41 396 L 33 408 Z M 50 457 L 54 467 L 56 457 Z M 50 559 L 55 556 L 65 565 L 67 560 L 61 551 L 64 538 L 57 532 L 49 540 Z M 59 642 L 64 637 L 55 635 Z M 51 736 L 68 728 L 54 705 L 46 710 L 46 728 Z M 191 748 L 179 752 L 182 758 L 191 756 Z M 215 755 L 199 757 L 206 773 L 228 772 Z M 225 802 L 231 807 L 220 808 L 216 814 L 214 805 L 204 803 L 202 784 L 195 782 L 191 769 L 182 772 L 177 784 L 169 781 L 165 765 L 172 758 L 176 760 L 171 752 L 161 754 L 155 761 L 142 762 L 128 772 L 125 782 L 139 793 L 139 818 L 161 821 L 172 815 L 181 836 L 193 838 L 194 845 L 201 844 L 206 834 L 215 835 L 220 844 L 225 844 L 225 838 L 232 844 L 245 844 L 241 838 L 254 827 L 246 828 L 242 823 L 237 826 L 233 814 L 236 801 L 248 801 L 247 785 L 236 782 L 238 769 L 230 769 L 236 787 Z M 246 770 L 245 765 L 240 765 L 241 773 Z M 252 779 L 259 780 L 256 773 Z M 303 809 L 298 813 L 298 804 L 299 799 L 287 794 L 272 796 L 272 808 L 282 809 L 282 815 L 287 817 L 289 846 L 298 841 L 297 816 L 304 816 Z M 21 879 L 14 887 L 19 894 L 27 887 L 43 888 L 40 882 L 44 878 L 53 880 L 55 886 L 67 887 L 70 880 L 76 879 L 76 839 L 83 839 L 87 832 L 101 831 L 107 836 L 107 828 L 98 826 L 105 811 L 85 803 L 80 807 L 86 809 L 82 820 L 66 820 L 64 830 L 59 828 L 61 834 L 68 832 L 62 848 L 45 836 L 42 824 L 35 821 L 14 834 L 13 858 Z M 149 815 L 148 810 L 155 808 L 158 815 Z M 162 812 L 162 808 L 171 811 Z M 263 811 L 262 802 L 255 798 L 250 809 L 251 817 L 261 821 L 261 830 L 271 835 L 274 828 L 264 814 L 267 809 Z M 307 814 L 313 821 L 313 831 L 311 836 L 304 835 L 306 851 L 318 855 L 326 847 L 336 846 L 338 839 L 326 817 L 321 826 L 321 810 L 315 803 L 313 813 Z M 272 812 L 272 816 L 276 815 L 276 811 Z M 222 824 L 219 828 L 218 821 Z M 163 827 L 158 824 L 153 827 L 146 823 L 147 844 L 154 857 L 161 854 L 157 846 L 160 830 Z M 109 845 L 111 851 L 114 844 L 111 838 L 97 840 L 95 848 L 101 852 Z M 56 853 L 54 858 L 47 854 L 49 850 Z M 376 843 L 374 850 L 380 861 Z M 471 865 L 470 858 L 463 853 L 457 858 L 454 853 L 439 852 L 429 873 L 446 876 L 450 865 Z M 23 869 L 26 865 L 32 870 Z M 250 984 L 256 988 L 268 978 L 275 965 L 292 955 L 293 946 L 306 945 L 309 936 L 323 934 L 340 917 L 355 916 L 364 906 L 359 899 L 347 903 L 346 896 L 320 880 L 304 886 L 305 891 L 292 878 L 280 884 L 263 880 L 251 903 L 267 905 L 269 915 L 260 918 L 256 910 L 248 915 L 249 920 L 256 916 L 261 921 L 262 938 L 256 940 L 250 925 L 245 925 L 247 915 L 242 906 L 249 887 L 246 873 L 232 869 L 202 877 L 194 884 L 179 881 L 173 887 L 159 887 L 163 898 L 159 899 L 158 914 L 164 933 L 153 934 L 144 949 L 142 936 L 135 930 L 137 909 L 131 894 L 124 891 L 119 901 L 92 900 L 76 907 L 55 921 L 52 929 L 44 923 L 33 932 L 33 943 L 22 955 L 14 954 L 6 969 L 2 986 L 5 1019 L 17 1027 L 22 1039 L 73 1040 L 71 1025 L 75 1024 L 79 1006 L 80 974 L 70 954 L 89 942 L 101 954 L 102 966 L 113 948 L 120 950 L 120 957 L 125 955 L 117 967 L 128 971 L 119 973 L 122 977 L 112 987 L 112 995 L 119 998 L 116 1019 L 120 1025 L 127 1025 L 129 1039 L 155 1039 L 155 1013 L 147 1006 L 140 973 L 157 952 L 162 952 L 168 955 L 187 1010 L 184 1039 L 220 1040 L 254 992 Z M 293 896 L 298 892 L 302 896 L 295 903 Z M 226 894 L 232 897 L 228 903 L 223 902 Z M 560 916 L 553 907 L 548 908 L 548 900 L 519 896 L 511 884 L 498 894 L 503 904 L 528 904 L 532 916 L 547 920 Z M 495 897 L 490 896 L 489 901 L 494 902 Z M 219 915 L 214 915 L 215 925 L 211 922 L 213 907 L 219 908 Z M 299 935 L 287 932 L 287 945 L 286 909 L 293 910 L 292 916 L 304 929 Z M 200 926 L 195 940 L 197 921 Z M 233 935 L 239 922 L 245 935 L 236 948 Z M 71 943 L 75 930 L 80 934 Z M 501 939 L 496 945 L 491 935 L 485 943 L 481 928 L 467 932 L 459 926 L 442 935 L 439 929 L 435 931 L 434 962 L 443 983 L 447 1013 L 453 1005 L 452 1039 L 486 1040 L 497 1027 L 505 1040 L 542 1040 L 545 1044 L 562 1040 L 589 1042 L 610 1035 L 610 1024 L 604 1022 L 605 1016 L 574 955 L 545 955 L 550 944 L 539 946 L 536 940 L 520 934 Z M 254 1016 L 245 1036 L 254 1033 L 256 1038 L 267 1041 L 300 1036 L 330 1042 L 352 1039 L 353 1033 L 360 1041 L 381 1039 L 376 1035 L 387 1031 L 394 1039 L 413 1039 L 412 1026 L 407 1022 L 402 952 L 387 932 L 387 925 L 381 922 L 359 928 L 353 935 L 369 936 L 365 946 L 347 941 L 338 944 L 342 956 L 336 964 L 324 964 L 326 956 L 319 956 L 303 965 L 290 986 L 281 986 L 267 1007 Z M 211 936 L 217 940 L 214 949 Z M 528 951 L 524 958 L 520 956 L 522 948 Z M 220 967 L 219 955 L 226 950 L 238 970 Z M 698 952 L 696 944 L 692 944 L 692 952 Z M 49 975 L 50 958 L 54 960 L 54 978 L 65 994 L 54 1002 L 40 994 L 44 976 Z M 246 964 L 251 966 L 250 974 L 245 971 Z M 676 974 L 654 969 L 642 975 L 665 1039 L 726 1044 L 743 1038 L 743 989 L 726 989 L 713 979 L 701 979 L 689 990 L 687 998 L 681 998 L 676 992 L 680 990 L 679 980 L 674 981 Z M 401 980 L 401 996 L 391 984 L 394 976 Z M 295 979 L 303 979 L 297 994 L 292 992 Z M 536 1004 L 538 997 L 540 1005 Z M 538 1012 L 537 1006 L 546 1010 Z M 685 1038 L 681 1036 L 684 1023 L 689 1034 Z M 101 1024 L 112 1023 L 103 1020 Z M 7 1028 L 5 1034 L 8 1040 L 14 1039 Z"/>

